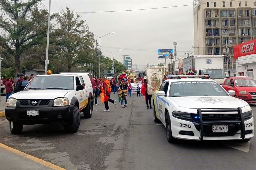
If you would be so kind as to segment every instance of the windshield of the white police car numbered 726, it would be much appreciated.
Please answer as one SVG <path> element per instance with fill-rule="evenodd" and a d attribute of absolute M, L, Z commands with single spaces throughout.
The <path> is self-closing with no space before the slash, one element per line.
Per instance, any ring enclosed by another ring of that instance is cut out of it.
<path fill-rule="evenodd" d="M 189 79 L 189 78 L 187 78 Z M 175 96 L 229 96 L 216 82 L 172 82 L 169 97 Z"/>

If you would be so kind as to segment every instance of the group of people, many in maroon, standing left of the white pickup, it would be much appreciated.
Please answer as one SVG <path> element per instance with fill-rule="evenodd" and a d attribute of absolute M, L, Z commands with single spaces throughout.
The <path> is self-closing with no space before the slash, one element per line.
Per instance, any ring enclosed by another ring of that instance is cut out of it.
<path fill-rule="evenodd" d="M 23 87 L 25 87 L 27 83 L 29 83 L 30 79 L 33 77 L 34 74 L 31 74 L 30 77 L 25 74 L 17 74 L 16 78 L 7 77 L 6 79 L 4 79 L 3 77 L 1 77 L 1 93 L 3 94 L 5 90 L 5 102 L 11 94 L 22 91 Z"/>

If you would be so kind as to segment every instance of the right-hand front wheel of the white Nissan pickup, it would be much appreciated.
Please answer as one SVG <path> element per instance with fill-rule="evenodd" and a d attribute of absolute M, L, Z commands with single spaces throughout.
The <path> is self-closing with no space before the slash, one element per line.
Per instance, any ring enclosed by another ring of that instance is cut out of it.
<path fill-rule="evenodd" d="M 72 118 L 67 122 L 63 122 L 63 126 L 66 132 L 68 133 L 76 133 L 80 126 L 80 112 L 77 106 L 74 106 L 74 111 Z"/>

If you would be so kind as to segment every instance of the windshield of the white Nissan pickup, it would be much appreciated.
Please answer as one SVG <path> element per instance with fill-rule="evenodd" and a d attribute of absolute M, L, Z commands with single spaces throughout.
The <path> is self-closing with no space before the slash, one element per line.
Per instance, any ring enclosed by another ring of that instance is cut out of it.
<path fill-rule="evenodd" d="M 36 76 L 27 84 L 25 90 L 52 89 L 74 90 L 73 76 Z"/>

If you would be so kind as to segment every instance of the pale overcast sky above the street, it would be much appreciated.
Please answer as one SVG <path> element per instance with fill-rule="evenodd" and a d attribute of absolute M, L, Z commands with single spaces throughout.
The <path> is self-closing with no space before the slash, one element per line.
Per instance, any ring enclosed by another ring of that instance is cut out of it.
<path fill-rule="evenodd" d="M 185 58 L 185 53 L 194 51 L 193 0 L 51 0 L 51 13 L 66 7 L 75 12 L 95 12 L 190 4 L 191 6 L 153 10 L 81 14 L 94 35 L 104 36 L 114 32 L 101 38 L 104 56 L 112 58 L 110 52 L 121 49 L 114 53 L 115 58 L 129 55 L 132 64 L 143 70 L 147 63 L 157 65 L 164 62 L 157 59 L 157 49 L 173 49 L 174 40 L 177 41 L 178 58 Z M 44 5 L 48 9 L 49 0 L 45 0 Z M 95 37 L 96 39 L 99 43 L 99 38 Z M 167 64 L 169 62 L 171 61 L 167 60 Z"/>

